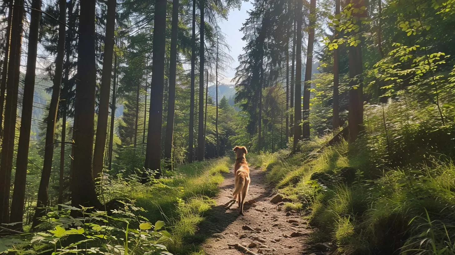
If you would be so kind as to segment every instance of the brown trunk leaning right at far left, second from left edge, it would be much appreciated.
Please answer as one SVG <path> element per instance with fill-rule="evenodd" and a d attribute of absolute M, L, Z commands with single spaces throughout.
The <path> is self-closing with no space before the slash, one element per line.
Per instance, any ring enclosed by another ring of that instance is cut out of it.
<path fill-rule="evenodd" d="M 0 224 L 8 223 L 9 221 L 11 169 L 13 167 L 16 131 L 23 16 L 24 1 L 15 0 L 11 18 L 10 60 L 8 64 L 8 79 L 6 81 L 4 137 L 0 163 Z"/>

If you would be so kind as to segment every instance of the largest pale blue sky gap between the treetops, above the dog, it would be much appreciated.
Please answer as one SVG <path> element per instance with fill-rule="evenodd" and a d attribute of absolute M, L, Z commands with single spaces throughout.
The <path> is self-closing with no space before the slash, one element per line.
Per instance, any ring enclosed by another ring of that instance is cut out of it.
<path fill-rule="evenodd" d="M 226 77 L 220 80 L 220 83 L 232 83 L 231 80 L 235 75 L 235 68 L 238 66 L 238 56 L 243 54 L 243 46 L 245 46 L 245 42 L 242 41 L 243 33 L 239 30 L 248 18 L 247 11 L 252 8 L 253 5 L 249 1 L 243 2 L 240 10 L 231 10 L 227 20 L 222 20 L 222 23 L 220 24 L 221 31 L 226 34 L 227 44 L 231 46 L 231 52 L 229 55 L 231 55 L 234 59 L 230 68 L 226 70 Z"/>

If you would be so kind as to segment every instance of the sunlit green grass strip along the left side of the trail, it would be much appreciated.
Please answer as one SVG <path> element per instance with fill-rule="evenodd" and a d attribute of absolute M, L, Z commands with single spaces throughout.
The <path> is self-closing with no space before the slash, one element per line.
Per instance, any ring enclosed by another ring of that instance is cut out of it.
<path fill-rule="evenodd" d="M 118 176 L 106 185 L 107 199 L 126 198 L 147 210 L 143 216 L 151 222 L 164 220 L 171 230 L 172 241 L 166 243 L 175 255 L 197 255 L 197 225 L 215 205 L 212 199 L 222 183 L 222 173 L 228 173 L 229 158 L 209 160 L 180 166 L 175 172 L 152 184 L 140 184 Z"/>

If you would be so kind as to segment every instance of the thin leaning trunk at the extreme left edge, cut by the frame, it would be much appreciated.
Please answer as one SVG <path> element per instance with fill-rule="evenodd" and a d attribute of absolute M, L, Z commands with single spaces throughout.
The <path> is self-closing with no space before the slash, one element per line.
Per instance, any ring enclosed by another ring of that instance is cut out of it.
<path fill-rule="evenodd" d="M 3 107 L 5 107 L 5 90 L 6 90 L 6 76 L 8 74 L 8 57 L 10 55 L 10 36 L 11 36 L 11 12 L 13 10 L 13 0 L 9 0 L 8 18 L 6 18 L 6 38 L 5 38 L 5 59 L 3 60 L 3 70 L 1 74 L 0 85 L 0 142 L 3 138 Z"/>

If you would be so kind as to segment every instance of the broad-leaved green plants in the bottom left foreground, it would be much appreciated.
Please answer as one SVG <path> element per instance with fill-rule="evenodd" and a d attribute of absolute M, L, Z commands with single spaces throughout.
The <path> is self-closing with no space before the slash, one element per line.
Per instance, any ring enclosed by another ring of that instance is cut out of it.
<path fill-rule="evenodd" d="M 93 208 L 74 208 L 61 205 L 41 219 L 44 232 L 0 239 L 0 253 L 14 254 L 149 254 L 170 255 L 162 243 L 172 236 L 164 230 L 164 222 L 152 225 L 139 216 L 142 208 L 123 203 L 119 209 L 94 211 Z M 70 212 L 80 214 L 73 218 Z"/>

